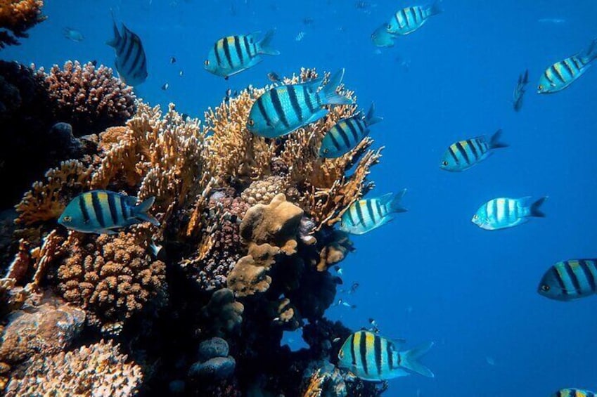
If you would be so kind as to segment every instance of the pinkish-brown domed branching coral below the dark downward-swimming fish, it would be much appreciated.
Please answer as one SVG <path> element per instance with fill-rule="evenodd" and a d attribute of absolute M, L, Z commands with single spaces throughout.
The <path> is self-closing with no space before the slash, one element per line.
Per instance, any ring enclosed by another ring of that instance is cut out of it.
<path fill-rule="evenodd" d="M 56 119 L 72 125 L 75 136 L 97 134 L 118 126 L 135 112 L 135 95 L 130 86 L 113 76 L 112 69 L 93 63 L 68 61 L 54 65 L 44 77 Z"/>

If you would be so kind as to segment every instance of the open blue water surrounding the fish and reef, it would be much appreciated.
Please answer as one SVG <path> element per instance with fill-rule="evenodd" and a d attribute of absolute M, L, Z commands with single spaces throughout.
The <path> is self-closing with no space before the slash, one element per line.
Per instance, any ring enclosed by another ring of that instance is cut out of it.
<path fill-rule="evenodd" d="M 266 73 L 300 67 L 346 68 L 359 104 L 375 100 L 385 119 L 372 128 L 383 160 L 370 194 L 408 188 L 406 214 L 354 237 L 342 262 L 345 296 L 357 308 L 328 315 L 354 329 L 375 318 L 381 333 L 410 346 L 436 341 L 425 357 L 434 379 L 390 381 L 387 396 L 549 396 L 564 386 L 597 389 L 597 297 L 562 303 L 537 294 L 556 261 L 597 255 L 597 70 L 569 89 L 539 96 L 534 86 L 551 63 L 597 36 L 597 2 L 444 1 L 445 12 L 375 53 L 369 36 L 405 1 L 49 1 L 49 19 L 5 59 L 38 66 L 66 60 L 113 65 L 105 45 L 110 7 L 139 34 L 149 77 L 136 90 L 152 104 L 174 102 L 202 117 L 226 89 L 267 83 Z M 312 18 L 312 25 L 302 20 Z M 554 24 L 541 18 L 560 18 Z M 80 43 L 62 37 L 70 26 Z M 275 28 L 281 56 L 228 82 L 203 70 L 219 37 Z M 296 35 L 304 31 L 302 41 Z M 169 63 L 174 56 L 177 62 Z M 397 58 L 410 60 L 409 70 Z M 522 112 L 510 103 L 518 74 L 529 69 Z M 183 70 L 183 77 L 179 71 Z M 166 82 L 169 89 L 160 87 Z M 503 129 L 500 150 L 459 174 L 439 170 L 447 146 Z M 470 222 L 494 197 L 548 195 L 546 219 L 489 232 Z M 489 359 L 488 359 L 489 358 Z M 494 365 L 488 363 L 492 361 Z"/>

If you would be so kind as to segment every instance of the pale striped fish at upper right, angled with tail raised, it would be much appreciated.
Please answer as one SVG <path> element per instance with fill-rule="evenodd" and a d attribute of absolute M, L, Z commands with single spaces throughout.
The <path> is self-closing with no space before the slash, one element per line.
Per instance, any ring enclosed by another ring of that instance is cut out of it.
<path fill-rule="evenodd" d="M 589 48 L 574 56 L 560 60 L 548 67 L 539 78 L 538 93 L 562 91 L 589 69 L 597 58 L 597 39 L 593 39 Z"/>

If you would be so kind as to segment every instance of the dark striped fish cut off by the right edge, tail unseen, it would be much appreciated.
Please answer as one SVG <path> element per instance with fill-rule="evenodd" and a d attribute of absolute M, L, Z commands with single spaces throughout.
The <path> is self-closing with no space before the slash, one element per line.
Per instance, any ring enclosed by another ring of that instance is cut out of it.
<path fill-rule="evenodd" d="M 558 301 L 571 301 L 597 293 L 597 259 L 560 261 L 545 272 L 539 294 Z"/>

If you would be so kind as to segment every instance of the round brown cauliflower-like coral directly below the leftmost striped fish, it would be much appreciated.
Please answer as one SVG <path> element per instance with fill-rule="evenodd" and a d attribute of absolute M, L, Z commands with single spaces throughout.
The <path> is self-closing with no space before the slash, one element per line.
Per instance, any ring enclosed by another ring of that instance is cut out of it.
<path fill-rule="evenodd" d="M 151 301 L 162 304 L 165 263 L 151 258 L 148 240 L 143 226 L 116 236 L 69 233 L 53 275 L 58 293 L 105 331 Z"/>

